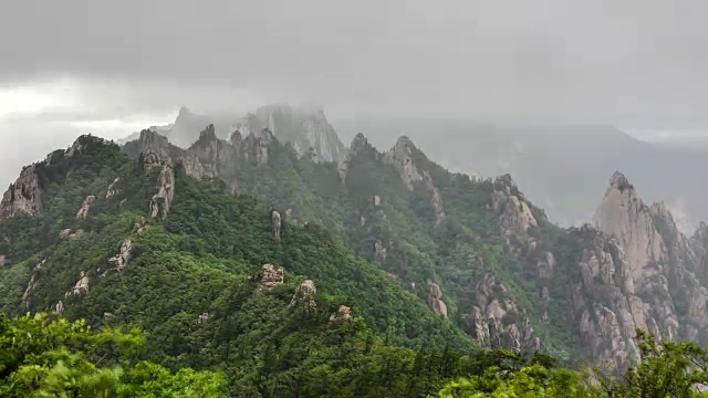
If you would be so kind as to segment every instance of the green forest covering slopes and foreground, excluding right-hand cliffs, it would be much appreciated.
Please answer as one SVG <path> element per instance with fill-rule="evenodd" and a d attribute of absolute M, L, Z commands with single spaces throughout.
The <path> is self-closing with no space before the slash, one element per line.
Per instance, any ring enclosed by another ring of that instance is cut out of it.
<path fill-rule="evenodd" d="M 641 363 L 594 366 L 564 291 L 580 239 L 535 207 L 528 235 L 506 238 L 490 199 L 503 179 L 414 147 L 425 172 L 409 188 L 363 136 L 344 180 L 278 140 L 267 164 L 231 159 L 212 178 L 135 149 L 82 136 L 35 165 L 33 191 L 11 187 L 41 210 L 0 219 L 1 397 L 664 398 L 708 385 L 698 343 L 643 329 Z M 529 264 L 549 250 L 561 271 L 539 274 Z M 487 275 L 520 308 L 501 326 L 528 321 L 541 344 L 475 336 Z"/>

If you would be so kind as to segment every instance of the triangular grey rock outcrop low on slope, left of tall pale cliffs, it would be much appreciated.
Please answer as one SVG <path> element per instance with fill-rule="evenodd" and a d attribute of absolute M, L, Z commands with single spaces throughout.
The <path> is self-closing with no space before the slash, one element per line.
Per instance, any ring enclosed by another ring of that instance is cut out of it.
<path fill-rule="evenodd" d="M 506 347 L 516 352 L 537 352 L 541 339 L 531 322 L 509 296 L 507 287 L 487 273 L 476 287 L 477 304 L 467 320 L 467 331 L 481 347 Z"/>

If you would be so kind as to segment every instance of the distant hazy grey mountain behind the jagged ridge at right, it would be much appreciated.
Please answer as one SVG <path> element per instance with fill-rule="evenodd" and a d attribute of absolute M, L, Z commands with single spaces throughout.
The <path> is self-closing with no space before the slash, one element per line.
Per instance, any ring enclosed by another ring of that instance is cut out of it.
<path fill-rule="evenodd" d="M 705 146 L 638 140 L 612 126 L 492 125 L 451 119 L 340 119 L 342 136 L 366 132 L 377 147 L 405 134 L 444 167 L 477 176 L 514 176 L 551 220 L 569 227 L 591 220 L 607 176 L 623 170 L 652 201 L 664 200 L 684 233 L 708 219 Z"/>

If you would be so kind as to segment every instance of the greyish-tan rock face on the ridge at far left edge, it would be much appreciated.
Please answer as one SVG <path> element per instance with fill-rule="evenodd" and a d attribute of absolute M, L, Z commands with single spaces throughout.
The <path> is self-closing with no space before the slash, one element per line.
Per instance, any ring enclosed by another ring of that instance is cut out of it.
<path fill-rule="evenodd" d="M 0 202 L 0 220 L 20 214 L 35 216 L 42 211 L 42 191 L 37 165 L 27 166 L 8 188 Z"/>

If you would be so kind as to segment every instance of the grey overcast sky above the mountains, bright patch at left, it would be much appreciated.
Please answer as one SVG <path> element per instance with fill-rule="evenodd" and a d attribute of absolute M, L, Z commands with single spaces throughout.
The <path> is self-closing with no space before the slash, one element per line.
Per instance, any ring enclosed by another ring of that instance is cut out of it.
<path fill-rule="evenodd" d="M 706 15 L 705 0 L 0 0 L 0 167 L 179 105 L 702 130 Z"/>

